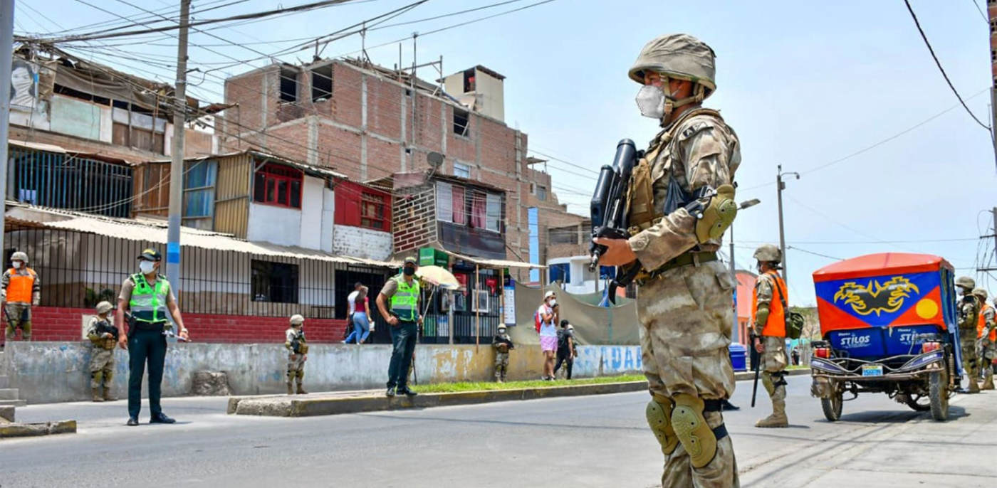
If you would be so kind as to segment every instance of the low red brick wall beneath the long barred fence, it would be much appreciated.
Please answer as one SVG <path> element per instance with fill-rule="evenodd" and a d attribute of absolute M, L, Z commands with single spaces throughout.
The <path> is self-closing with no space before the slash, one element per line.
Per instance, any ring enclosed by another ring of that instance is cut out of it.
<path fill-rule="evenodd" d="M 81 341 L 81 316 L 92 309 L 35 307 L 32 310 L 32 341 Z M 234 315 L 183 314 L 190 339 L 198 343 L 283 343 L 287 318 Z M 3 322 L 6 327 L 6 321 Z M 305 319 L 305 334 L 311 343 L 343 340 L 346 320 Z"/>

